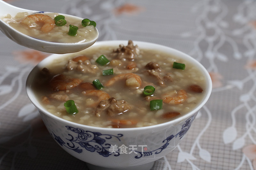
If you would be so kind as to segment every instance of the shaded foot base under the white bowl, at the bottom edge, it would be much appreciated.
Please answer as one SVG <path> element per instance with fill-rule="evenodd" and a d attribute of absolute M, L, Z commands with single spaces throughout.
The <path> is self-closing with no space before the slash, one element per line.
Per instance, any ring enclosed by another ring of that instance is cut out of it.
<path fill-rule="evenodd" d="M 140 166 L 127 167 L 127 168 L 105 168 L 105 167 L 96 166 L 88 163 L 86 164 L 90 170 L 150 170 L 153 167 L 154 162 L 150 162 Z"/>

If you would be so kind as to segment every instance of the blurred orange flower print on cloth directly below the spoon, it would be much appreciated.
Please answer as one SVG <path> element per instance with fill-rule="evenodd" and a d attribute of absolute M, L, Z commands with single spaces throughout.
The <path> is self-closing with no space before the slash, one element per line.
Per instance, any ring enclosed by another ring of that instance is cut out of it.
<path fill-rule="evenodd" d="M 15 59 L 20 63 L 31 63 L 36 65 L 49 54 L 33 49 L 28 49 L 23 51 L 14 51 L 13 55 L 15 56 Z"/>

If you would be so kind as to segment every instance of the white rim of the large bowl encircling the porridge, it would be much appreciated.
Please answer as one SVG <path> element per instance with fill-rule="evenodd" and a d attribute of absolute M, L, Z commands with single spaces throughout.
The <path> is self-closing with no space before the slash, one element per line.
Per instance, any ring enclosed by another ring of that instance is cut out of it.
<path fill-rule="evenodd" d="M 102 45 L 107 45 L 107 46 L 119 46 L 119 44 L 127 44 L 128 43 L 128 40 L 110 40 L 110 41 L 97 41 L 95 44 L 92 45 L 92 48 L 95 47 L 95 46 L 102 46 Z M 67 124 L 72 124 L 76 127 L 83 127 L 83 128 L 90 128 L 90 129 L 95 129 L 95 130 L 101 130 L 101 131 L 109 131 L 111 129 L 111 131 L 113 132 L 124 132 L 124 131 L 134 131 L 134 130 L 144 130 L 144 129 L 154 129 L 154 128 L 161 128 L 161 127 L 164 127 L 164 126 L 171 126 L 173 124 L 176 124 L 176 123 L 179 123 L 179 122 L 182 122 L 186 119 L 188 119 L 190 116 L 194 115 L 197 111 L 199 111 L 199 109 L 201 109 L 205 103 L 207 102 L 207 100 L 209 99 L 210 95 L 211 95 L 211 92 L 212 92 L 212 80 L 211 80 L 211 77 L 208 73 L 208 71 L 204 68 L 204 66 L 199 63 L 195 58 L 177 50 L 177 49 L 174 49 L 174 48 L 171 48 L 171 47 L 168 47 L 168 46 L 164 46 L 164 45 L 160 45 L 160 44 L 156 44 L 156 43 L 151 43 L 151 42 L 145 42 L 145 41 L 133 41 L 133 44 L 136 45 L 138 44 L 139 47 L 145 49 L 145 48 L 149 48 L 149 47 L 156 47 L 157 49 L 160 48 L 160 51 L 169 51 L 167 53 L 169 54 L 179 54 L 179 57 L 182 57 L 182 58 L 186 58 L 186 59 L 189 59 L 190 62 L 193 62 L 195 63 L 197 66 L 200 67 L 200 70 L 203 71 L 205 77 L 206 77 L 206 94 L 204 96 L 204 99 L 202 100 L 202 102 L 196 106 L 193 110 L 191 110 L 190 112 L 188 112 L 187 114 L 185 115 L 182 115 L 180 116 L 179 118 L 177 119 L 174 119 L 174 120 L 171 120 L 169 122 L 164 122 L 164 123 L 160 123 L 160 124 L 156 124 L 156 125 L 150 125 L 150 126 L 145 126 L 145 127 L 134 127 L 134 128 L 103 128 L 103 127 L 96 127 L 96 126 L 89 126 L 89 125 L 84 125 L 84 124 L 79 124 L 79 123 L 76 123 L 76 122 L 71 122 L 71 121 L 68 121 L 68 120 L 65 120 L 65 119 L 62 119 L 58 116 L 55 116 L 53 114 L 51 114 L 50 112 L 48 112 L 47 110 L 45 110 L 37 101 L 36 101 L 36 97 L 33 95 L 33 92 L 32 92 L 32 89 L 31 89 L 31 82 L 32 82 L 32 79 L 33 79 L 33 74 L 35 72 L 36 69 L 39 68 L 42 68 L 41 65 L 44 65 L 44 63 L 47 63 L 49 62 L 51 59 L 50 58 L 58 58 L 58 57 L 61 57 L 63 55 L 73 55 L 73 54 L 76 54 L 76 53 L 71 53 L 71 54 L 52 54 L 48 57 L 46 57 L 44 60 L 42 60 L 40 63 L 38 63 L 32 70 L 31 72 L 29 73 L 28 75 L 28 78 L 27 78 L 27 81 L 26 81 L 26 92 L 27 92 L 27 95 L 28 95 L 28 98 L 30 99 L 30 101 L 33 103 L 33 105 L 38 109 L 38 110 L 41 110 L 41 112 L 43 112 L 45 115 L 48 115 L 49 117 L 57 120 L 57 121 L 60 121 L 60 122 L 64 122 L 64 123 L 67 123 Z M 86 49 L 85 49 L 86 50 Z M 82 53 L 84 50 L 80 51 L 80 52 L 77 52 L 77 53 Z"/>

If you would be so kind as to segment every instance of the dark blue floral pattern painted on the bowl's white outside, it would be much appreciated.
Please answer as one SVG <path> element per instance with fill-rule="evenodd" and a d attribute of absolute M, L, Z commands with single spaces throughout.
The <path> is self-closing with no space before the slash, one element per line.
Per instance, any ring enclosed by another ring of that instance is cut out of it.
<path fill-rule="evenodd" d="M 164 145 L 162 145 L 160 148 L 155 149 L 154 151 L 150 152 L 137 152 L 139 155 L 135 156 L 136 159 L 141 158 L 142 156 L 149 156 L 154 154 L 161 153 L 164 149 L 167 148 L 169 145 L 169 142 L 175 137 L 180 137 L 180 139 L 188 132 L 192 122 L 194 121 L 197 114 L 194 114 L 193 116 L 189 117 L 185 124 L 182 125 L 181 130 L 175 134 L 170 135 L 166 139 L 163 140 Z M 81 128 L 74 128 L 71 126 L 66 126 L 66 128 L 75 134 L 76 136 L 73 136 L 72 134 L 68 134 L 70 137 L 69 139 L 66 138 L 69 142 L 65 143 L 59 136 L 55 135 L 53 132 L 51 133 L 52 137 L 61 145 L 64 147 L 67 147 L 68 149 L 71 149 L 77 153 L 82 153 L 83 148 L 90 152 L 98 152 L 103 157 L 108 157 L 110 155 L 119 156 L 119 152 L 110 152 L 108 149 L 112 146 L 109 144 L 109 139 L 116 138 L 118 141 L 121 141 L 121 137 L 123 137 L 123 134 L 117 134 L 115 135 L 109 135 L 109 134 L 101 134 L 100 132 L 92 132 L 92 131 L 84 131 Z"/>

